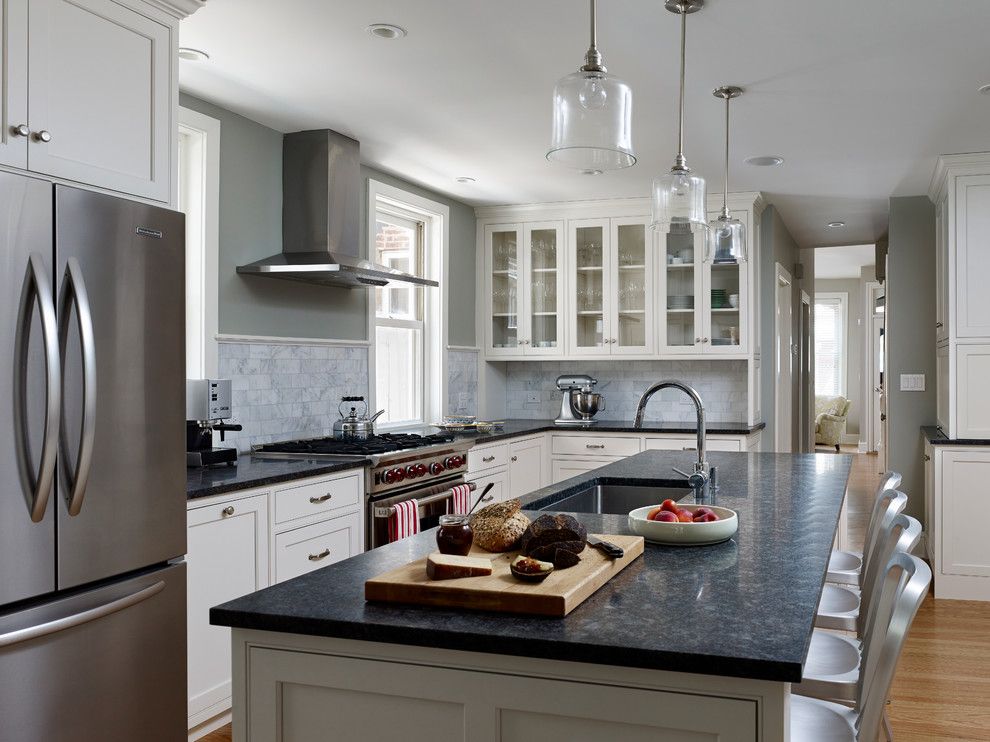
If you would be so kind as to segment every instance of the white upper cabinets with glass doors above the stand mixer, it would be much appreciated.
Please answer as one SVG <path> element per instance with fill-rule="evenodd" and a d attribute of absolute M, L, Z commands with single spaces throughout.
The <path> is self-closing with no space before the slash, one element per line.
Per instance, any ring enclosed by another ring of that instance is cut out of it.
<path fill-rule="evenodd" d="M 749 358 L 763 202 L 729 206 L 745 263 L 705 260 L 702 233 L 658 234 L 635 216 L 646 199 L 479 209 L 486 357 Z"/>

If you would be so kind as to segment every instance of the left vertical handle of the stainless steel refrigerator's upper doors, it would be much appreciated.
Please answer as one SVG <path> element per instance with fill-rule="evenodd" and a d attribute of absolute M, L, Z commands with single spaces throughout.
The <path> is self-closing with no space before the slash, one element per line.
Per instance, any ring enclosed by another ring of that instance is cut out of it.
<path fill-rule="evenodd" d="M 31 336 L 31 304 L 37 298 L 38 314 L 45 342 L 45 433 L 41 444 L 41 460 L 37 475 L 31 467 L 31 445 L 27 431 L 27 354 Z M 62 383 L 59 378 L 58 330 L 55 319 L 55 299 L 48 281 L 44 259 L 31 253 L 21 303 L 17 312 L 17 361 L 14 363 L 14 429 L 18 432 L 17 458 L 20 466 L 21 486 L 27 500 L 31 520 L 41 522 L 48 507 L 48 497 L 55 484 L 57 442 L 59 436 L 59 411 L 62 406 Z"/>

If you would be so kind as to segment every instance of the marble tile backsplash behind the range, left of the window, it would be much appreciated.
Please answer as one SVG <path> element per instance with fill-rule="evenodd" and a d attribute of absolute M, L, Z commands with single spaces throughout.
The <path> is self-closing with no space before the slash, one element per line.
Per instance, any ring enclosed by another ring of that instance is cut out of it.
<path fill-rule="evenodd" d="M 227 440 L 247 451 L 330 435 L 340 398 L 368 396 L 368 348 L 222 342 L 219 374 L 231 380 L 233 422 L 244 426 Z"/>

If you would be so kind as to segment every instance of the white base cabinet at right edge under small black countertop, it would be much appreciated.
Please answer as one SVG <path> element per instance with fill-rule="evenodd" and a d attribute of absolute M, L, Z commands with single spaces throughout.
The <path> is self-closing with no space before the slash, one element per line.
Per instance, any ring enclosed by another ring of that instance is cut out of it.
<path fill-rule="evenodd" d="M 935 597 L 990 600 L 990 447 L 925 446 L 926 550 Z"/>

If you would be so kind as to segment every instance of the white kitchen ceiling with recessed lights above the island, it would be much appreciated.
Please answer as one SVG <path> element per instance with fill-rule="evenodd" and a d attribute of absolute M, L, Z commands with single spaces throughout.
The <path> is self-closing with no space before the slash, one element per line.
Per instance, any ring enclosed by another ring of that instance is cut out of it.
<path fill-rule="evenodd" d="M 550 95 L 587 47 L 583 0 L 208 0 L 181 42 L 183 90 L 282 131 L 330 127 L 362 160 L 471 204 L 640 196 L 675 150 L 678 18 L 661 0 L 605 0 L 599 46 L 634 95 L 632 168 L 548 164 Z M 409 35 L 382 41 L 373 22 Z M 887 198 L 921 195 L 940 153 L 990 150 L 990 2 L 708 0 L 688 21 L 689 164 L 762 190 L 804 247 L 872 242 Z M 786 158 L 779 168 L 742 164 Z M 454 182 L 459 175 L 477 183 Z M 846 222 L 827 229 L 832 220 Z"/>

